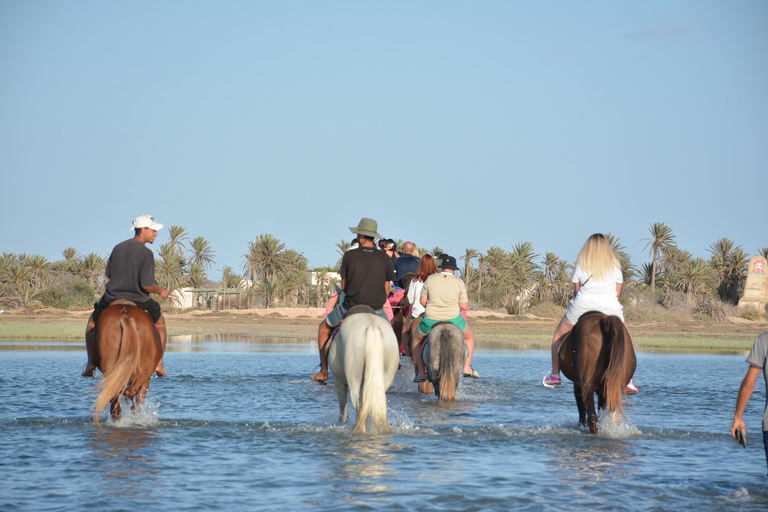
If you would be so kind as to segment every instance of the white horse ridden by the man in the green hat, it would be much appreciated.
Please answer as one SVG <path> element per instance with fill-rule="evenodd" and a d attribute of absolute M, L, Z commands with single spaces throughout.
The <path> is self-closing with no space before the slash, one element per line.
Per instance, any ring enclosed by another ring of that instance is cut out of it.
<path fill-rule="evenodd" d="M 358 312 L 358 311 L 365 312 Z M 379 433 L 392 432 L 386 392 L 395 379 L 400 354 L 392 325 L 366 306 L 349 310 L 328 350 L 328 366 L 339 399 L 339 421 L 347 421 L 347 392 L 357 411 L 353 432 L 367 432 L 368 418 Z"/>

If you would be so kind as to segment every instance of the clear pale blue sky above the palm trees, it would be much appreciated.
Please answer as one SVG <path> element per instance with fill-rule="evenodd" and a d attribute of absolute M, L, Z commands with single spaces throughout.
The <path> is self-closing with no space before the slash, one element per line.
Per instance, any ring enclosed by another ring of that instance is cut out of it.
<path fill-rule="evenodd" d="M 760 0 L 0 0 L 0 251 L 152 214 L 215 269 L 261 233 L 333 265 L 361 217 L 457 256 L 610 232 L 639 266 L 654 222 L 755 254 L 766 91 Z"/>

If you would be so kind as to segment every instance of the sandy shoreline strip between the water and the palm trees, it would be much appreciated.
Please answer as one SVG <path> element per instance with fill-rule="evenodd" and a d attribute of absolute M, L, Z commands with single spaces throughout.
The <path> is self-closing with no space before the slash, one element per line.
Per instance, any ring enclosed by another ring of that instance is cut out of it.
<path fill-rule="evenodd" d="M 0 342 L 83 338 L 90 311 L 5 311 L 0 313 Z M 166 312 L 168 333 L 179 335 L 248 334 L 265 337 L 314 338 L 323 317 L 320 308 L 277 308 L 223 312 Z M 469 318 L 479 346 L 547 349 L 556 321 L 472 311 Z M 638 350 L 748 351 L 768 322 L 733 318 L 718 323 L 629 324 Z"/>

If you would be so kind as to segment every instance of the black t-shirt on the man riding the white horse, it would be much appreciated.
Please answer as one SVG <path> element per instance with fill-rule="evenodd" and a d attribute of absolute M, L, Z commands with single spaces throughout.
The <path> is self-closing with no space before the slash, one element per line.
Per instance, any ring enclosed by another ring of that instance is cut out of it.
<path fill-rule="evenodd" d="M 381 309 L 387 300 L 385 285 L 395 280 L 395 269 L 384 251 L 358 247 L 344 253 L 341 278 L 347 280 L 345 308 L 362 304 Z"/>

